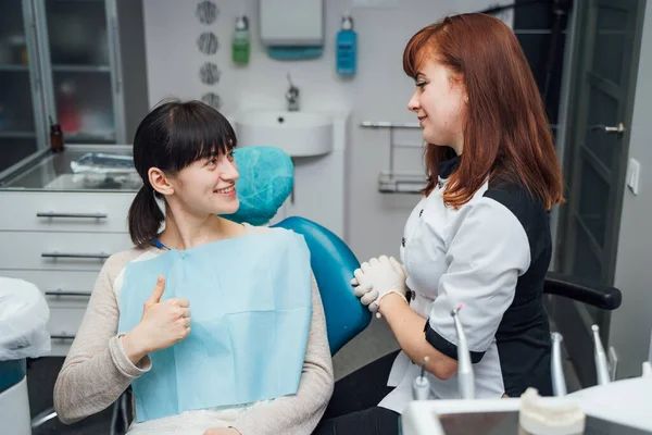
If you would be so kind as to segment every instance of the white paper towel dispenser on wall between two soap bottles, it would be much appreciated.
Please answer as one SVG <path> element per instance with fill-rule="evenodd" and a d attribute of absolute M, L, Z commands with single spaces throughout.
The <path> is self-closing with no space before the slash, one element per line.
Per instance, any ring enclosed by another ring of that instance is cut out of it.
<path fill-rule="evenodd" d="M 324 0 L 260 0 L 260 13 L 267 47 L 324 45 Z"/>

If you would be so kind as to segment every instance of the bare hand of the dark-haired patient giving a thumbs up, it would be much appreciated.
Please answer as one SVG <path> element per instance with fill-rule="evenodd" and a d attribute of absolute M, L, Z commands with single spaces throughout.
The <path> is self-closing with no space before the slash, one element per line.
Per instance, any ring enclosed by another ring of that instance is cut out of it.
<path fill-rule="evenodd" d="M 187 299 L 161 302 L 165 278 L 159 276 L 151 296 L 145 301 L 140 323 L 122 337 L 125 352 L 134 364 L 146 355 L 165 349 L 190 334 L 190 308 Z"/>

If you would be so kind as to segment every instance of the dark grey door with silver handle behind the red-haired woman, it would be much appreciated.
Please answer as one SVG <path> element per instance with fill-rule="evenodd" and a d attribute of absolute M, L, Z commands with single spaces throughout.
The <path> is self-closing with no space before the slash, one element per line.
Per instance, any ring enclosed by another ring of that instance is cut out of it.
<path fill-rule="evenodd" d="M 642 0 L 575 2 L 576 46 L 557 270 L 612 285 L 627 167 Z M 584 387 L 595 384 L 591 325 L 610 313 L 556 298 L 553 318 Z"/>

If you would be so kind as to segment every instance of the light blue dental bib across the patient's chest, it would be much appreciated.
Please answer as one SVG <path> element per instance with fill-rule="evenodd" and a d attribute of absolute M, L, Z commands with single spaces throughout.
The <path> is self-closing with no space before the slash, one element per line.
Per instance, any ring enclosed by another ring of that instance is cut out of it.
<path fill-rule="evenodd" d="M 150 353 L 152 369 L 133 381 L 136 421 L 297 393 L 312 315 L 303 236 L 269 231 L 129 263 L 121 333 L 140 322 L 159 275 L 161 301 L 190 301 L 191 332 Z"/>

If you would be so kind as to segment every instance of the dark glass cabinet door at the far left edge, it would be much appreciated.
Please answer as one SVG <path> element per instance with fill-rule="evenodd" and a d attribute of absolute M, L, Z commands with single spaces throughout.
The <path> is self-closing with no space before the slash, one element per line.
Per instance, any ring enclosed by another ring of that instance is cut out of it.
<path fill-rule="evenodd" d="M 32 3 L 0 0 L 0 172 L 45 146 Z"/>

